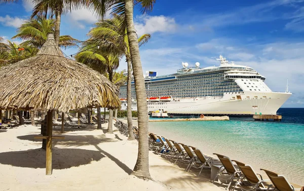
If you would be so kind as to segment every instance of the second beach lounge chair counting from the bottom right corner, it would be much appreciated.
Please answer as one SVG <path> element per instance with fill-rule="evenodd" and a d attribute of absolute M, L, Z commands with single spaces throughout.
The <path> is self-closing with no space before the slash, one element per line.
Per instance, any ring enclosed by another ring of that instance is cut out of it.
<path fill-rule="evenodd" d="M 233 190 L 235 190 L 236 186 L 240 185 L 241 183 L 247 183 L 251 187 L 250 189 L 245 189 L 242 186 L 240 186 L 240 189 L 251 191 L 251 190 L 269 190 L 270 188 L 267 188 L 264 184 L 265 182 L 269 182 L 270 180 L 263 180 L 262 176 L 260 174 L 256 174 L 252 167 L 250 165 L 245 165 L 244 163 L 241 163 L 239 161 L 235 161 L 239 169 L 242 172 L 242 175 L 240 179 L 237 181 L 236 185 L 234 186 Z M 246 185 L 246 184 L 245 184 Z M 246 185 L 246 187 L 248 187 Z"/>

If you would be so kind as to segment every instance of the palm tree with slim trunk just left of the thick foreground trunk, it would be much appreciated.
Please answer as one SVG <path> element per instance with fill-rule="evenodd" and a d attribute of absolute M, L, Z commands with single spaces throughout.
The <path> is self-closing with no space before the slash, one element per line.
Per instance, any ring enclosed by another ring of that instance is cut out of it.
<path fill-rule="evenodd" d="M 132 125 L 132 97 L 131 97 L 131 75 L 132 75 L 132 63 L 130 57 L 130 46 L 128 41 L 127 28 L 124 17 L 117 14 L 113 15 L 113 18 L 106 19 L 95 23 L 95 27 L 90 30 L 88 35 L 89 41 L 93 41 L 99 44 L 106 44 L 107 49 L 119 52 L 115 49 L 119 49 L 126 56 L 128 64 L 128 81 L 127 81 L 127 120 L 129 138 L 128 140 L 134 140 L 133 125 Z M 139 46 L 144 45 L 150 39 L 150 34 L 143 34 L 139 37 Z M 104 42 L 104 39 L 107 43 Z M 110 45 L 110 46 L 109 46 Z"/>

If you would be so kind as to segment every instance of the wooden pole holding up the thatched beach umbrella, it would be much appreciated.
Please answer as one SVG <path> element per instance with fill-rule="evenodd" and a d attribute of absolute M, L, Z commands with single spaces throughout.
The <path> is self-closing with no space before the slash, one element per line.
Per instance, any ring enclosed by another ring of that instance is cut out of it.
<path fill-rule="evenodd" d="M 52 175 L 52 134 L 53 134 L 53 111 L 48 110 L 47 117 L 47 150 L 46 150 L 46 175 Z"/>

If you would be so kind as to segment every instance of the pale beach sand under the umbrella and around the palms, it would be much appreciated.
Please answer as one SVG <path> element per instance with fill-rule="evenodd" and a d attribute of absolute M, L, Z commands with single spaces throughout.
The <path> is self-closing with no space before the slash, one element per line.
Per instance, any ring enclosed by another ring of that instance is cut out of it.
<path fill-rule="evenodd" d="M 136 122 L 134 123 L 136 124 Z M 137 159 L 137 141 L 127 141 L 116 128 L 104 134 L 96 126 L 67 131 L 53 141 L 53 174 L 45 175 L 45 151 L 40 127 L 23 125 L 0 130 L 0 190 L 224 190 L 210 183 L 210 171 L 201 177 L 184 166 L 149 151 L 153 180 L 130 175 Z M 59 128 L 53 135 L 61 135 Z M 209 173 L 209 175 L 208 175 Z"/>

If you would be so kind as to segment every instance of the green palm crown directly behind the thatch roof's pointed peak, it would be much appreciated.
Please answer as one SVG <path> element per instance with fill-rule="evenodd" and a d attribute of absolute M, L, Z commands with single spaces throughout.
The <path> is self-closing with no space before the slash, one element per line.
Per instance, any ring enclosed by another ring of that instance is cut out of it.
<path fill-rule="evenodd" d="M 37 17 L 37 19 L 30 19 L 24 22 L 17 30 L 17 34 L 12 37 L 12 39 L 21 39 L 25 42 L 20 44 L 30 45 L 34 47 L 42 47 L 46 42 L 48 33 L 54 33 L 54 20 L 46 19 L 43 17 Z M 80 41 L 73 39 L 70 35 L 63 35 L 59 37 L 59 46 L 68 48 L 79 46 L 77 43 Z"/>

